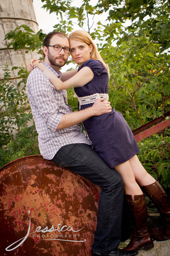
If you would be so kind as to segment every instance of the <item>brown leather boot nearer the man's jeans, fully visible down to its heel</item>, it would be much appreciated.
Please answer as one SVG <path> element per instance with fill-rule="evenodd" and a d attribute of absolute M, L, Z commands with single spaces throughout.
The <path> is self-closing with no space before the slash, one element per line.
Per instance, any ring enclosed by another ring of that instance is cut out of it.
<path fill-rule="evenodd" d="M 133 217 L 134 233 L 129 244 L 123 250 L 148 250 L 153 248 L 152 238 L 147 230 L 147 208 L 144 195 L 126 195 L 127 204 Z"/>

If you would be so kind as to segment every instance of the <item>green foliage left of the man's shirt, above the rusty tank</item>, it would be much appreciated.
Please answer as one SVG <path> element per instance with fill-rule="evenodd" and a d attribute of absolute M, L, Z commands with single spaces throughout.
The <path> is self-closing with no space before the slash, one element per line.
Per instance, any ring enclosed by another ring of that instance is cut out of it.
<path fill-rule="evenodd" d="M 10 81 L 8 65 L 4 67 L 4 79 L 0 84 L 0 167 L 20 157 L 40 154 L 25 84 L 19 90 L 27 75 L 28 72 L 20 68 L 18 76 L 21 80 L 15 88 Z"/>

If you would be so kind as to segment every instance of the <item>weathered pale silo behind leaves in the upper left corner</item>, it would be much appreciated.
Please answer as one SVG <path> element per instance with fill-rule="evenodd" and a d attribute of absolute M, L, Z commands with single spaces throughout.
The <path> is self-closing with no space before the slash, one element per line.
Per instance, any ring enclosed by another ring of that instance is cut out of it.
<path fill-rule="evenodd" d="M 28 67 L 30 59 L 37 56 L 36 51 L 25 53 L 24 49 L 7 49 L 9 42 L 4 41 L 6 33 L 22 24 L 34 32 L 38 31 L 33 0 L 0 0 L 0 81 L 3 79 L 3 65 L 6 62 L 10 70 L 13 66 Z M 11 72 L 11 79 L 14 84 L 17 83 L 17 70 Z"/>

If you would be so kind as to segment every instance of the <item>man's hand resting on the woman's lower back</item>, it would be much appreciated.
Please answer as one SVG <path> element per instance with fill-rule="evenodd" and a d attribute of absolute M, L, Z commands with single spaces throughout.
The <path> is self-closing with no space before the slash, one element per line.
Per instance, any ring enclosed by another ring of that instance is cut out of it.
<path fill-rule="evenodd" d="M 97 99 L 94 105 L 91 107 L 93 111 L 93 116 L 100 116 L 104 113 L 111 112 L 111 102 L 104 101 L 105 98 Z"/>

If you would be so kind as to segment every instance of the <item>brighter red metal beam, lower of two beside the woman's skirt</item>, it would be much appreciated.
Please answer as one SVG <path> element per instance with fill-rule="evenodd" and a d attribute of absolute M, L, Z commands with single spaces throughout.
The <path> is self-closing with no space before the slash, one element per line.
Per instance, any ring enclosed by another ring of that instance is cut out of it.
<path fill-rule="evenodd" d="M 145 138 L 153 134 L 156 134 L 157 132 L 162 131 L 169 126 L 170 126 L 170 119 L 167 119 L 161 122 L 160 124 L 147 129 L 146 131 L 142 131 L 140 134 L 135 135 L 136 142 L 144 140 Z"/>

